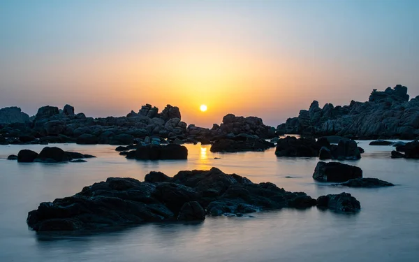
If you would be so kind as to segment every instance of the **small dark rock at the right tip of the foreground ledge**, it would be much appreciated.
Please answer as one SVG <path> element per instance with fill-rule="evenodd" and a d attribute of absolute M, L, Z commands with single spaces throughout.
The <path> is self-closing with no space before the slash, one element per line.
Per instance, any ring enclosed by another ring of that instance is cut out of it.
<path fill-rule="evenodd" d="M 319 208 L 328 208 L 335 212 L 355 213 L 361 209 L 360 202 L 348 193 L 319 196 L 317 198 L 317 206 Z"/>

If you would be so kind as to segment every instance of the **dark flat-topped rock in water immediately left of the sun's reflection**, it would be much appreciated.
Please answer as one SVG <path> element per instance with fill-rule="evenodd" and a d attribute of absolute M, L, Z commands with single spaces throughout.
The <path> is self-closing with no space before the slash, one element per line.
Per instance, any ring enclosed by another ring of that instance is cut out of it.
<path fill-rule="evenodd" d="M 188 159 L 188 150 L 183 145 L 141 145 L 137 150 L 128 152 L 127 159 L 166 160 Z"/>

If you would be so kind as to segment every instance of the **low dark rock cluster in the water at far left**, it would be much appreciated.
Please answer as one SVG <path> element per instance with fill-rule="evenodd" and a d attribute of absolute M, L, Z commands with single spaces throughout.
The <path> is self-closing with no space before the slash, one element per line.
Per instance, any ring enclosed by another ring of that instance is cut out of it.
<path fill-rule="evenodd" d="M 8 160 L 17 160 L 22 163 L 42 162 L 42 163 L 60 163 L 60 162 L 85 162 L 82 159 L 92 158 L 91 154 L 81 154 L 78 152 L 66 152 L 59 147 L 44 147 L 38 154 L 32 150 L 20 150 L 15 155 L 12 154 Z"/>

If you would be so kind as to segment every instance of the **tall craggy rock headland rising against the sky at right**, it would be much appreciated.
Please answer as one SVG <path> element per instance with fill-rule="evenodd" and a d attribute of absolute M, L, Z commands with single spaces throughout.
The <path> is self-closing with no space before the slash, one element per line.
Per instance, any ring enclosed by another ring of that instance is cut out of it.
<path fill-rule="evenodd" d="M 349 105 L 318 101 L 309 110 L 300 110 L 298 117 L 277 126 L 278 133 L 310 136 L 345 136 L 358 139 L 402 138 L 419 136 L 419 96 L 409 101 L 407 87 L 397 85 L 384 92 L 373 90 L 367 102 L 351 101 Z"/>

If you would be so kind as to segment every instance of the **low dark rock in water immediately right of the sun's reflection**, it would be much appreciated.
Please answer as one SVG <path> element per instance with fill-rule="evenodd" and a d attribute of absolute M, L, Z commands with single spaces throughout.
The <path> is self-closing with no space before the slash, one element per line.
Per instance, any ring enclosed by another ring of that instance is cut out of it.
<path fill-rule="evenodd" d="M 264 151 L 274 146 L 274 143 L 260 138 L 247 138 L 246 140 L 221 139 L 214 141 L 210 150 L 211 152 Z"/>

